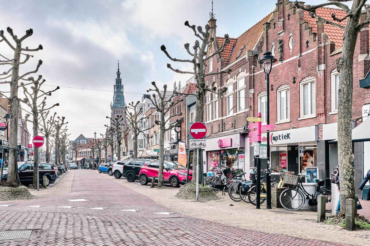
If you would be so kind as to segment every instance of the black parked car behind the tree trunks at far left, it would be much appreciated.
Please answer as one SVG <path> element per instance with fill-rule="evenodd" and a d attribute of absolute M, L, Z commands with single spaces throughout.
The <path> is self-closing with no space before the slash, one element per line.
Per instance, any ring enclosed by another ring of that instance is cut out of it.
<path fill-rule="evenodd" d="M 33 162 L 19 162 L 18 163 L 18 175 L 21 184 L 31 185 L 33 184 Z M 46 176 L 46 185 L 54 183 L 57 176 L 55 175 L 54 166 L 50 163 L 39 163 L 39 180 L 40 184 L 43 184 L 43 177 Z M 8 177 L 8 165 L 4 166 L 3 180 Z"/>

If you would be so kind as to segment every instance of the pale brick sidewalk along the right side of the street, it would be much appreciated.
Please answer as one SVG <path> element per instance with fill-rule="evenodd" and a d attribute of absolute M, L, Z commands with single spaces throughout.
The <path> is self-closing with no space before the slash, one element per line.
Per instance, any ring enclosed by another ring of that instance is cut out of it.
<path fill-rule="evenodd" d="M 221 192 L 217 195 L 223 199 L 219 200 L 183 201 L 172 198 L 178 190 L 176 188 L 150 189 L 149 185 L 142 186 L 138 181 L 129 183 L 122 178 L 115 179 L 114 176 L 104 175 L 104 177 L 184 215 L 265 233 L 361 246 L 370 245 L 369 230 L 348 232 L 336 226 L 318 224 L 316 223 L 316 211 L 290 212 L 285 209 L 265 209 L 266 203 L 261 205 L 262 209 L 256 210 L 252 204 L 232 201 L 228 194 L 221 195 Z M 230 206 L 231 204 L 233 206 Z"/>

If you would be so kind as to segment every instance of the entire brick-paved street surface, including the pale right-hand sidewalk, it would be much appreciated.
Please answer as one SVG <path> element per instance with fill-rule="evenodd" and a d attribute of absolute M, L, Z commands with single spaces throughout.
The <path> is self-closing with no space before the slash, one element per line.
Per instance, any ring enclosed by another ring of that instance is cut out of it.
<path fill-rule="evenodd" d="M 231 202 L 228 197 L 212 202 L 184 202 L 170 198 L 176 189 L 149 189 L 97 171 L 70 170 L 64 175 L 52 187 L 32 192 L 38 199 L 0 203 L 1 232 L 32 230 L 28 239 L 3 240 L 1 246 L 370 243 L 367 232 L 315 224 L 314 212 L 257 212 L 251 205 Z M 301 219 L 302 215 L 306 218 Z M 318 240 L 312 235 L 315 231 L 324 233 L 320 238 L 326 240 Z"/>

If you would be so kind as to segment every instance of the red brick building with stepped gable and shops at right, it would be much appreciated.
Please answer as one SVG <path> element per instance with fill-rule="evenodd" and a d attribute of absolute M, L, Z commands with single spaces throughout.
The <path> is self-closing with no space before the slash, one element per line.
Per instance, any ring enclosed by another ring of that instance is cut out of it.
<path fill-rule="evenodd" d="M 266 124 L 266 77 L 258 61 L 263 52 L 272 51 L 278 61 L 273 64 L 267 88 L 270 124 L 276 125 L 270 134 L 271 167 L 296 173 L 317 168 L 317 178 L 329 183 L 331 170 L 338 163 L 336 143 L 329 142 L 337 138 L 336 60 L 341 54 L 344 30 L 317 21 L 291 1 L 277 0 L 276 6 L 270 7 L 272 13 L 238 38 L 232 38 L 221 54 L 208 60 L 207 73 L 229 68 L 232 72 L 206 77 L 207 86 L 218 90 L 226 86 L 228 90 L 223 95 L 206 95 L 205 168 L 212 162 L 247 171 L 255 165 L 246 117 L 261 112 L 262 123 Z M 316 10 L 327 20 L 332 20 L 332 13 L 338 18 L 345 16 L 334 8 Z M 215 19 L 209 20 L 209 25 L 215 24 Z M 208 55 L 223 43 L 216 29 L 211 30 L 211 37 L 214 41 Z M 363 122 L 369 112 L 369 86 L 359 82 L 369 71 L 369 59 L 369 28 L 363 28 L 354 54 L 353 127 Z M 355 181 L 359 185 L 363 170 L 370 168 L 366 161 L 370 145 L 354 143 L 354 155 Z M 262 161 L 262 167 L 266 165 Z M 307 187 L 311 185 L 307 183 Z"/>

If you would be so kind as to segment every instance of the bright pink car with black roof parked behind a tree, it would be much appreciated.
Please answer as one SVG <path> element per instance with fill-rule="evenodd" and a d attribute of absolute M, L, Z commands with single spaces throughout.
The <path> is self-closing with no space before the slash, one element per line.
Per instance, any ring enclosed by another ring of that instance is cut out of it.
<path fill-rule="evenodd" d="M 151 177 L 155 177 L 156 181 L 158 181 L 158 170 L 159 161 L 155 160 L 145 163 L 139 172 L 140 184 L 147 185 Z M 192 179 L 192 174 L 193 171 L 189 170 L 189 181 Z M 186 182 L 186 167 L 177 162 L 165 161 L 163 178 L 172 187 L 179 187 L 180 184 L 185 184 Z"/>

